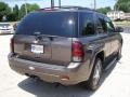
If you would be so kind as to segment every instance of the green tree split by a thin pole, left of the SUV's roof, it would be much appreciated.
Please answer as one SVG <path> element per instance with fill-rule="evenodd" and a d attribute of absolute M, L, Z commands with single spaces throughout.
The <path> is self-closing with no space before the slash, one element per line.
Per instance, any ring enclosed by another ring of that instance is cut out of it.
<path fill-rule="evenodd" d="M 30 13 L 30 12 L 34 12 L 34 11 L 40 9 L 38 4 L 29 4 L 29 3 L 27 3 L 26 6 L 27 6 L 27 13 Z M 25 4 L 23 4 L 21 6 L 21 10 L 20 10 L 20 18 L 23 18 L 25 15 L 26 15 Z"/>

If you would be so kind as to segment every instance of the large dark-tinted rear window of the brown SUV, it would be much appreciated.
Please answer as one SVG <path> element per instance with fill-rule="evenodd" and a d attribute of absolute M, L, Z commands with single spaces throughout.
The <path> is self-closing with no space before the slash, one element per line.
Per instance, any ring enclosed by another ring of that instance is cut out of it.
<path fill-rule="evenodd" d="M 75 37 L 75 12 L 35 12 L 20 23 L 15 33 Z"/>

